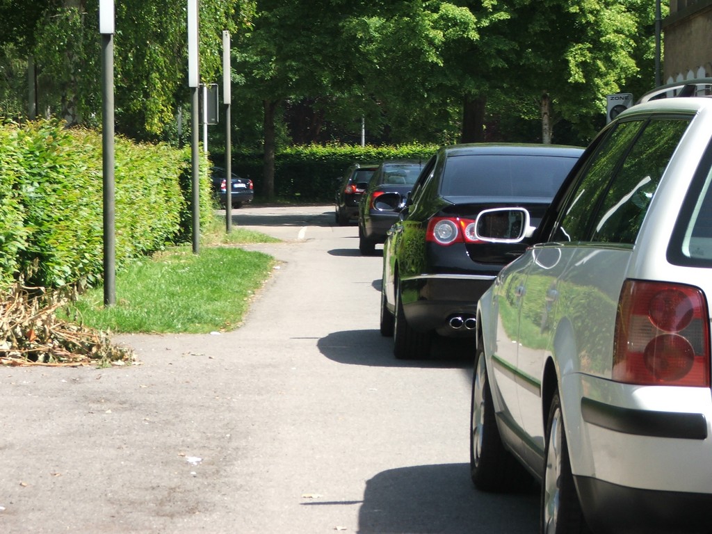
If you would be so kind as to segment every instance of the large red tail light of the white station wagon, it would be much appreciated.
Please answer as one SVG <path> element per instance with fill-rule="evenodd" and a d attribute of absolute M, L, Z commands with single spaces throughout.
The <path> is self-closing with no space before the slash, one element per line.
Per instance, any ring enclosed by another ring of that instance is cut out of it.
<path fill-rule="evenodd" d="M 629 384 L 710 386 L 710 333 L 702 291 L 628 280 L 616 317 L 613 379 Z"/>

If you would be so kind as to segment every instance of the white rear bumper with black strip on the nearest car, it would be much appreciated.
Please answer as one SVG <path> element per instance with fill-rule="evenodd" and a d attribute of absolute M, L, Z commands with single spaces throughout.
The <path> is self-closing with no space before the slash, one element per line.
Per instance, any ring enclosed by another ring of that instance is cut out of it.
<path fill-rule="evenodd" d="M 592 530 L 712 532 L 708 388 L 574 372 L 562 375 L 560 392 L 572 473 Z"/>

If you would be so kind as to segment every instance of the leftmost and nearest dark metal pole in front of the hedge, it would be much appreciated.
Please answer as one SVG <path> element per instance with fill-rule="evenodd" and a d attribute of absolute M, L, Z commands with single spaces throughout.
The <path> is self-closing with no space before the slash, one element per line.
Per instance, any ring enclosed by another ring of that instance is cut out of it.
<path fill-rule="evenodd" d="M 101 48 L 101 88 L 103 95 L 104 305 L 112 306 L 116 304 L 113 33 L 102 33 Z"/>

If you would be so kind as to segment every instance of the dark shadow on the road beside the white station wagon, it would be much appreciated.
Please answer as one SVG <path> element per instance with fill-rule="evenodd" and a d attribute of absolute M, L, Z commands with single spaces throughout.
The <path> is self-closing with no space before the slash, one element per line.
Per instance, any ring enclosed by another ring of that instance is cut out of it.
<path fill-rule="evenodd" d="M 469 464 L 389 469 L 366 482 L 358 532 L 530 534 L 538 530 L 538 504 L 533 481 L 523 493 L 476 491 Z"/>

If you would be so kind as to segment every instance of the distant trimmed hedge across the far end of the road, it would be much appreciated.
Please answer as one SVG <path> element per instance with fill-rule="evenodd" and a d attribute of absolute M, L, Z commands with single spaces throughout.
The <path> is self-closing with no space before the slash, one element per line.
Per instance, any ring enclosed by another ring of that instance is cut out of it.
<path fill-rule="evenodd" d="M 436 145 L 401 145 L 398 147 L 354 147 L 347 145 L 306 145 L 288 147 L 275 156 L 275 195 L 279 199 L 331 202 L 337 178 L 354 162 L 382 162 L 384 159 L 422 159 L 426 161 L 438 149 Z M 251 178 L 256 194 L 266 196 L 263 184 L 261 152 L 233 152 L 232 169 Z"/>

